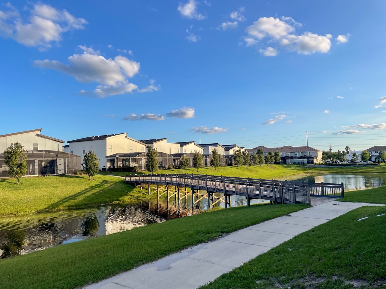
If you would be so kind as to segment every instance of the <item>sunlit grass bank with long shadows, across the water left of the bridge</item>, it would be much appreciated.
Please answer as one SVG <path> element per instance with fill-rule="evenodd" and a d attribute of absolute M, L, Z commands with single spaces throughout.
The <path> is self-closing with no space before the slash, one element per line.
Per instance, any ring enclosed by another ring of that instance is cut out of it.
<path fill-rule="evenodd" d="M 0 217 L 83 208 L 149 198 L 146 190 L 115 176 L 50 176 L 0 179 Z M 154 196 L 152 196 L 154 197 Z"/>

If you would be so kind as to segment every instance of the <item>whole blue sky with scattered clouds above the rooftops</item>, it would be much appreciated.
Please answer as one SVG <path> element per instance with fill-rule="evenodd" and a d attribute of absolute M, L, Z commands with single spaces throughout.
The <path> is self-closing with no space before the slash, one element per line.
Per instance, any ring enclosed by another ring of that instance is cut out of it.
<path fill-rule="evenodd" d="M 2 2 L 0 134 L 384 143 L 384 1 Z"/>

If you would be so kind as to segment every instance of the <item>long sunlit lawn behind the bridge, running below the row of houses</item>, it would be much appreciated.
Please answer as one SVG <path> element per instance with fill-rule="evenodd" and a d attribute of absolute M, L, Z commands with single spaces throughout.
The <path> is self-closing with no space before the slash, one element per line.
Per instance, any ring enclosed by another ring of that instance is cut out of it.
<path fill-rule="evenodd" d="M 139 173 L 148 173 L 141 171 Z M 182 173 L 181 169 L 158 170 L 156 173 Z M 197 169 L 189 168 L 184 170 L 184 173 L 196 174 Z M 325 167 L 325 168 L 306 168 L 297 165 L 262 165 L 256 166 L 220 166 L 217 171 L 214 168 L 200 168 L 198 173 L 203 175 L 223 175 L 223 176 L 240 176 L 245 178 L 262 178 L 262 179 L 287 179 L 301 178 L 305 175 L 317 175 L 325 173 L 386 173 L 386 165 L 371 165 L 371 166 L 349 166 L 343 168 Z M 105 175 L 129 175 L 128 172 L 102 172 Z M 131 173 L 132 174 L 132 173 Z"/>

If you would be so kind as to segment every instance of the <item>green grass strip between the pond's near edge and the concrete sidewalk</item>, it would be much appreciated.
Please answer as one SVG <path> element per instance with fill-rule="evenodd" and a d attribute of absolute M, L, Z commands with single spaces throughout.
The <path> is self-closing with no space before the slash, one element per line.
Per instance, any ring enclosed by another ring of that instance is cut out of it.
<path fill-rule="evenodd" d="M 253 205 L 210 211 L 0 259 L 0 289 L 81 287 L 188 246 L 307 207 Z"/>

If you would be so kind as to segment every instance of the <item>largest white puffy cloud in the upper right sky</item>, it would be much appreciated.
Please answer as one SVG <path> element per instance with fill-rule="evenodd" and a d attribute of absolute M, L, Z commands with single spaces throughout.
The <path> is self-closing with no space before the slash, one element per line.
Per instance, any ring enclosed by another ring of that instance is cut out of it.
<path fill-rule="evenodd" d="M 296 35 L 294 33 L 295 27 L 301 27 L 301 24 L 291 17 L 282 17 L 281 19 L 274 17 L 259 18 L 245 29 L 248 34 L 245 39 L 250 38 L 257 41 L 267 37 L 269 38 L 268 42 L 277 41 L 282 47 L 298 54 L 327 53 L 330 50 L 331 34 L 323 36 L 305 32 Z M 251 43 L 251 40 L 247 41 L 247 44 L 249 43 Z"/>

